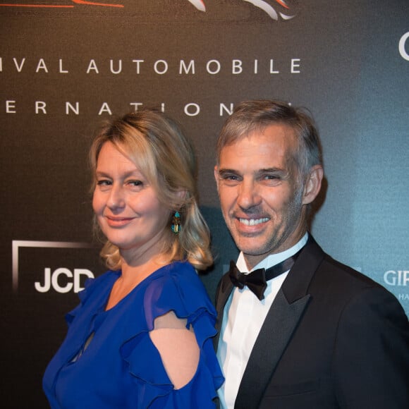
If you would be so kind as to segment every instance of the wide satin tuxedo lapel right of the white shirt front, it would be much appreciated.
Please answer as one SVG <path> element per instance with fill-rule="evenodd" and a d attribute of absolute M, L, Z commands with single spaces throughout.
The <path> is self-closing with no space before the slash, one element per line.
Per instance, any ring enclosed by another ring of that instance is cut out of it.
<path fill-rule="evenodd" d="M 307 308 L 308 286 L 324 252 L 310 236 L 267 314 L 238 389 L 235 409 L 258 408 L 281 355 Z"/>

